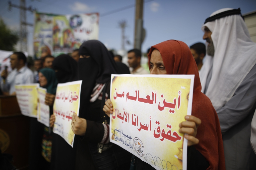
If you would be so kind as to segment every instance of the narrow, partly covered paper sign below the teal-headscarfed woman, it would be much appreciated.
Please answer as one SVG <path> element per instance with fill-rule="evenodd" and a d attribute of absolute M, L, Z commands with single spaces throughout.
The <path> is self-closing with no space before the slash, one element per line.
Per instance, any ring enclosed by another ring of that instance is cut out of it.
<path fill-rule="evenodd" d="M 45 95 L 46 95 L 46 89 L 38 87 L 37 88 L 37 96 L 38 96 L 37 121 L 49 127 L 50 126 L 50 107 L 45 104 Z"/>

